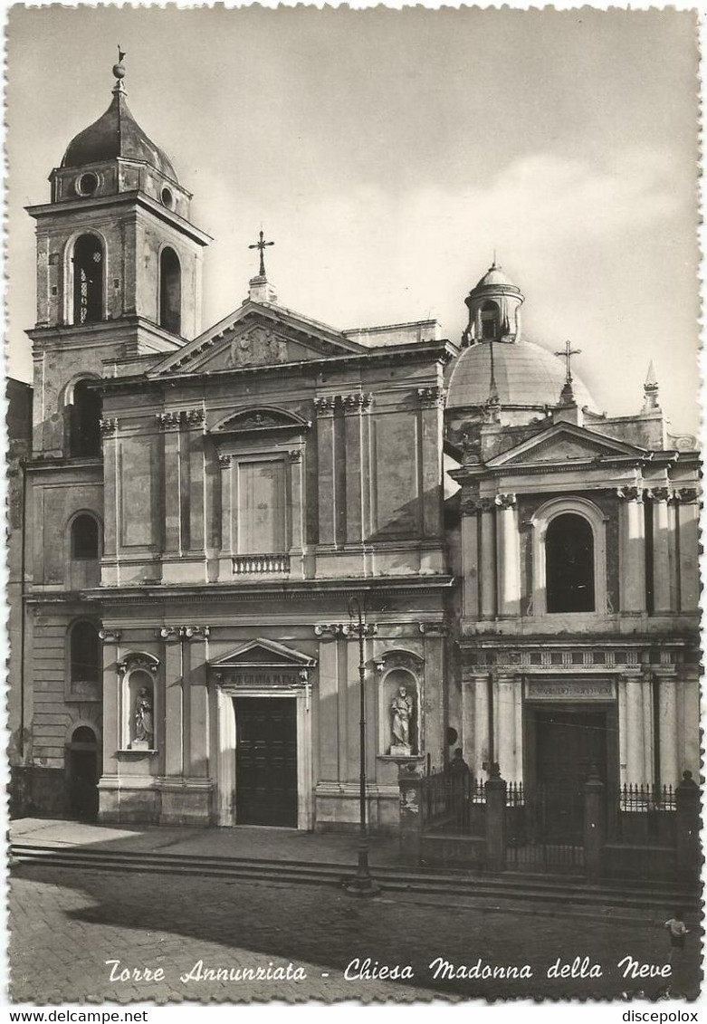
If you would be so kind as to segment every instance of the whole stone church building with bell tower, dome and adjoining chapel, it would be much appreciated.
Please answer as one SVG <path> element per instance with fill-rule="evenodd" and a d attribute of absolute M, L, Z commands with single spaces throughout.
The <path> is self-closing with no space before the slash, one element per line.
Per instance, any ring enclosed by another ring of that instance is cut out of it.
<path fill-rule="evenodd" d="M 17 813 L 349 827 L 361 677 L 375 828 L 457 745 L 531 788 L 697 772 L 698 454 L 653 379 L 599 413 L 495 266 L 460 345 L 327 327 L 262 233 L 202 330 L 210 239 L 124 74 L 29 210 Z"/>

